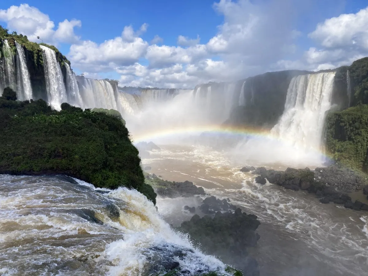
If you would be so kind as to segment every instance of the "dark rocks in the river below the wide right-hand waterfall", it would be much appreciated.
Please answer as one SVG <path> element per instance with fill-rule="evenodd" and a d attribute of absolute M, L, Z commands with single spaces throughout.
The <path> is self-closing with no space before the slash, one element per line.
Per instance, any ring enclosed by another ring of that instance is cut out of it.
<path fill-rule="evenodd" d="M 324 204 L 333 202 L 344 204 L 346 208 L 354 210 L 368 210 L 367 204 L 351 201 L 351 197 L 346 193 L 353 188 L 362 189 L 365 179 L 361 176 L 352 177 L 351 174 L 347 174 L 344 178 L 344 171 L 334 165 L 328 168 L 317 168 L 315 171 L 308 168 L 287 168 L 285 171 L 275 171 L 259 167 L 252 173 L 259 175 L 255 178 L 255 182 L 259 184 L 265 184 L 268 180 L 269 183 L 280 185 L 285 189 L 307 190 L 320 197 L 319 201 Z M 363 188 L 363 192 L 368 194 L 368 185 Z"/>

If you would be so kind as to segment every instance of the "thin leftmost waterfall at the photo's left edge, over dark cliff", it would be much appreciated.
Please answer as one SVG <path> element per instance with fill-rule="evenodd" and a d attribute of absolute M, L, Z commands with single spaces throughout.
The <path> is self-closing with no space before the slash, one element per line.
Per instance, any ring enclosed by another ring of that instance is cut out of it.
<path fill-rule="evenodd" d="M 9 46 L 7 39 L 3 40 L 3 71 L 4 78 L 1 80 L 3 83 L 1 94 L 3 93 L 3 89 L 8 86 L 17 90 L 14 52 Z"/>

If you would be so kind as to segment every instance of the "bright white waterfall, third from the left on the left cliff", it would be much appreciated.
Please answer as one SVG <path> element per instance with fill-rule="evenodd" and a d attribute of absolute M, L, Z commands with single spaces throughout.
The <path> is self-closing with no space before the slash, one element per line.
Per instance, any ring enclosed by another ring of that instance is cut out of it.
<path fill-rule="evenodd" d="M 47 99 L 51 107 L 60 110 L 61 103 L 67 102 L 66 89 L 60 65 L 56 60 L 54 50 L 40 45 L 43 52 L 43 67 L 45 70 Z"/>

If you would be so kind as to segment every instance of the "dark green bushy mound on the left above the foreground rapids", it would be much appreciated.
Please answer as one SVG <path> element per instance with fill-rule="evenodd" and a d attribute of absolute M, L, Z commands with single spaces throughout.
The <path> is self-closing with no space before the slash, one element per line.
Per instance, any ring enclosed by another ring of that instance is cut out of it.
<path fill-rule="evenodd" d="M 10 88 L 0 97 L 0 173 L 67 174 L 96 187 L 134 188 L 156 203 L 119 118 L 67 103 L 57 112 L 43 100 L 15 98 Z"/>

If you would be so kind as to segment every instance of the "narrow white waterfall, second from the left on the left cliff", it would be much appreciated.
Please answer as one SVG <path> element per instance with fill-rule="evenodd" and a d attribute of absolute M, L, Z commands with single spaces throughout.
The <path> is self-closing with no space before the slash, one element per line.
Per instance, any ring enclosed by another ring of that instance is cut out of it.
<path fill-rule="evenodd" d="M 32 99 L 31 78 L 27 68 L 25 53 L 23 47 L 15 41 L 17 48 L 17 77 L 18 77 L 18 99 L 29 100 Z"/>

